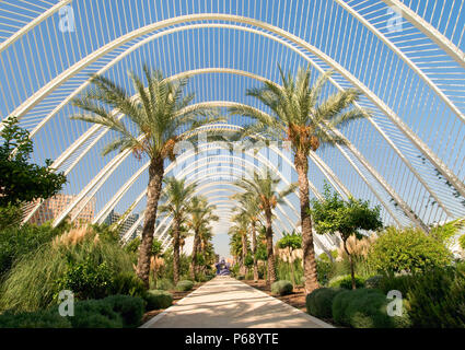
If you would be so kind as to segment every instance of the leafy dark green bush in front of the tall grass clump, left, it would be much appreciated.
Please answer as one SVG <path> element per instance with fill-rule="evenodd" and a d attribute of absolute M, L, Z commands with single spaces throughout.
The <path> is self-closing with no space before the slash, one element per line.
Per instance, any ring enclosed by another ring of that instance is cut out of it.
<path fill-rule="evenodd" d="M 112 285 L 112 271 L 105 261 L 94 264 L 86 257 L 84 261 L 69 262 L 57 283 L 59 291 L 70 290 L 75 299 L 102 299 Z"/>

